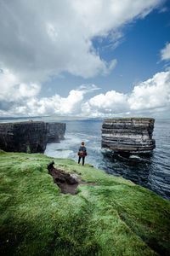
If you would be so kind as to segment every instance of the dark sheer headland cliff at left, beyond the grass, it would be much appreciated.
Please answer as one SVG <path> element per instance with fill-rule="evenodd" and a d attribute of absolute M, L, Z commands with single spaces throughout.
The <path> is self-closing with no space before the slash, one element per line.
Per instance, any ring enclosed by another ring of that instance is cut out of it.
<path fill-rule="evenodd" d="M 65 124 L 21 122 L 0 124 L 0 148 L 10 152 L 41 153 L 47 143 L 59 142 Z"/>

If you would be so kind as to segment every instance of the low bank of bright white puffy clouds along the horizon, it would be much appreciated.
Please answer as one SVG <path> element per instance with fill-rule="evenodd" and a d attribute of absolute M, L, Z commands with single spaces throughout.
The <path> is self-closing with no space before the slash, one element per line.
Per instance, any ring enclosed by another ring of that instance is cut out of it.
<path fill-rule="evenodd" d="M 95 84 L 82 84 L 67 97 L 55 94 L 38 98 L 40 87 L 37 84 L 17 84 L 17 77 L 8 71 L 0 73 L 1 81 L 8 83 L 5 93 L 0 93 L 1 116 L 156 116 L 170 111 L 170 71 L 156 73 L 153 78 L 134 86 L 129 94 L 110 90 L 105 94 L 96 93 L 88 100 L 85 95 L 99 90 Z M 28 86 L 31 90 L 26 93 Z"/>

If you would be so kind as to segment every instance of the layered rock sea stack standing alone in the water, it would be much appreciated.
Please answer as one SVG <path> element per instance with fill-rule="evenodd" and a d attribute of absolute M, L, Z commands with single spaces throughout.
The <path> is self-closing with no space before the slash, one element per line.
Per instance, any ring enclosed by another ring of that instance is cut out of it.
<path fill-rule="evenodd" d="M 156 147 L 152 139 L 155 119 L 105 119 L 102 125 L 102 148 L 114 151 L 147 151 Z"/>

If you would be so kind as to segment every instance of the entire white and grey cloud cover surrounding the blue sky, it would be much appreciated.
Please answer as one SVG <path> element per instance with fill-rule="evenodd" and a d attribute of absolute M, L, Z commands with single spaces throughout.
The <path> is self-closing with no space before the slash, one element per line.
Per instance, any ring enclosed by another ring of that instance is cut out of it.
<path fill-rule="evenodd" d="M 42 81 L 50 76 L 66 72 L 92 78 L 110 73 L 116 59 L 102 59 L 93 40 L 110 38 L 114 49 L 123 26 L 144 18 L 162 2 L 1 0 L 0 115 L 109 117 L 169 110 L 168 70 L 137 84 L 129 94 L 116 90 L 98 93 L 95 84 L 82 84 L 66 97 L 39 96 Z M 169 59 L 167 43 L 161 49 L 161 60 Z M 96 95 L 88 98 L 90 92 Z"/>

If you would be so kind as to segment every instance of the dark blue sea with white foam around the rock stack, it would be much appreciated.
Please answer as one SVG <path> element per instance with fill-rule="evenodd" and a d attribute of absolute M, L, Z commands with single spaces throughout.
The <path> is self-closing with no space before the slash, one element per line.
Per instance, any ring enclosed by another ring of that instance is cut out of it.
<path fill-rule="evenodd" d="M 23 119 L 1 119 L 0 122 L 21 120 Z M 77 161 L 77 150 L 84 142 L 88 151 L 85 164 L 93 165 L 113 176 L 129 179 L 170 201 L 170 119 L 156 119 L 153 132 L 156 148 L 152 152 L 139 154 L 119 154 L 102 149 L 102 119 L 46 117 L 36 120 L 66 124 L 65 140 L 48 143 L 44 154 Z"/>

